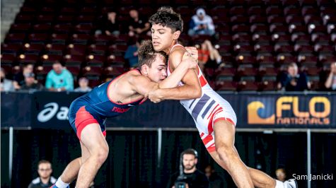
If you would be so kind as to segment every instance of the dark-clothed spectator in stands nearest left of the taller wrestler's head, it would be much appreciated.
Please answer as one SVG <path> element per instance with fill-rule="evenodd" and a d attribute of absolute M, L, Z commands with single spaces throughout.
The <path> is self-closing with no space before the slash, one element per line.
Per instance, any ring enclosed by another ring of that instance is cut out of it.
<path fill-rule="evenodd" d="M 131 19 L 129 20 L 129 37 L 139 36 L 139 35 L 149 35 L 151 36 L 151 32 L 149 31 L 150 25 L 146 21 L 147 19 L 140 18 L 139 12 L 135 9 L 129 11 L 129 16 Z"/>

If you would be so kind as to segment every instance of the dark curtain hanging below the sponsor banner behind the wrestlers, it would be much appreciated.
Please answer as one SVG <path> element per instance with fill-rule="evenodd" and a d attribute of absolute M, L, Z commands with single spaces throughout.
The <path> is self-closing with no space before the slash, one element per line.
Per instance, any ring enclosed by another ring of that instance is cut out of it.
<path fill-rule="evenodd" d="M 197 131 L 163 131 L 161 160 L 158 162 L 156 131 L 108 131 L 108 160 L 95 177 L 96 187 L 166 187 L 168 177 L 178 170 L 180 152 L 195 148 L 199 152 L 198 168 L 204 170 L 214 161 L 204 148 Z M 335 174 L 336 152 L 332 145 L 336 134 L 312 134 L 312 174 Z M 306 175 L 305 133 L 236 134 L 236 148 L 243 162 L 274 177 L 276 168 L 286 168 L 287 176 Z M 36 165 L 47 159 L 53 175 L 59 177 L 72 159 L 80 156 L 80 146 L 71 130 L 15 130 L 13 138 L 13 176 L 8 181 L 8 130 L 1 130 L 1 187 L 27 187 L 37 176 Z M 231 177 L 214 164 L 234 187 Z M 332 187 L 332 181 L 313 181 L 312 187 Z M 299 181 L 306 187 L 306 181 Z"/>

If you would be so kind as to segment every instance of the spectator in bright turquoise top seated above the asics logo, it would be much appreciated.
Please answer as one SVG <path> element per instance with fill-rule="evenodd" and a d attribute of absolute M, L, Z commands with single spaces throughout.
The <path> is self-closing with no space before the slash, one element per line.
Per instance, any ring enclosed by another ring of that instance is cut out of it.
<path fill-rule="evenodd" d="M 74 78 L 59 61 L 55 61 L 52 70 L 47 74 L 45 88 L 51 91 L 74 90 Z"/>

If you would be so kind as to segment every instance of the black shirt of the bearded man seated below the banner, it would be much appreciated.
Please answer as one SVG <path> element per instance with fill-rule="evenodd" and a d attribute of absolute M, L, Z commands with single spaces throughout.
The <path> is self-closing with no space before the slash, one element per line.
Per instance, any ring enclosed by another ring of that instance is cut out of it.
<path fill-rule="evenodd" d="M 178 179 L 179 175 L 179 172 L 175 172 L 173 175 L 170 176 L 167 188 L 171 188 L 174 186 L 175 181 Z M 207 180 L 207 176 L 205 176 L 204 173 L 199 170 L 196 170 L 195 172 L 190 174 L 183 173 L 183 175 L 187 177 L 183 182 L 186 182 L 189 185 L 189 188 L 209 187 L 209 181 Z"/>

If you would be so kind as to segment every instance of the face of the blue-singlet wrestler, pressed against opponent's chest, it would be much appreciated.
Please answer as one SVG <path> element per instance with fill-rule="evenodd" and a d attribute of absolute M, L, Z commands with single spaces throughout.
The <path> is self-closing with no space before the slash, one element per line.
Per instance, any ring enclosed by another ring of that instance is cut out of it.
<path fill-rule="evenodd" d="M 160 83 L 167 77 L 166 61 L 161 54 L 156 54 L 155 60 L 151 63 L 151 67 L 147 66 L 146 69 L 146 76 L 156 83 Z"/>

